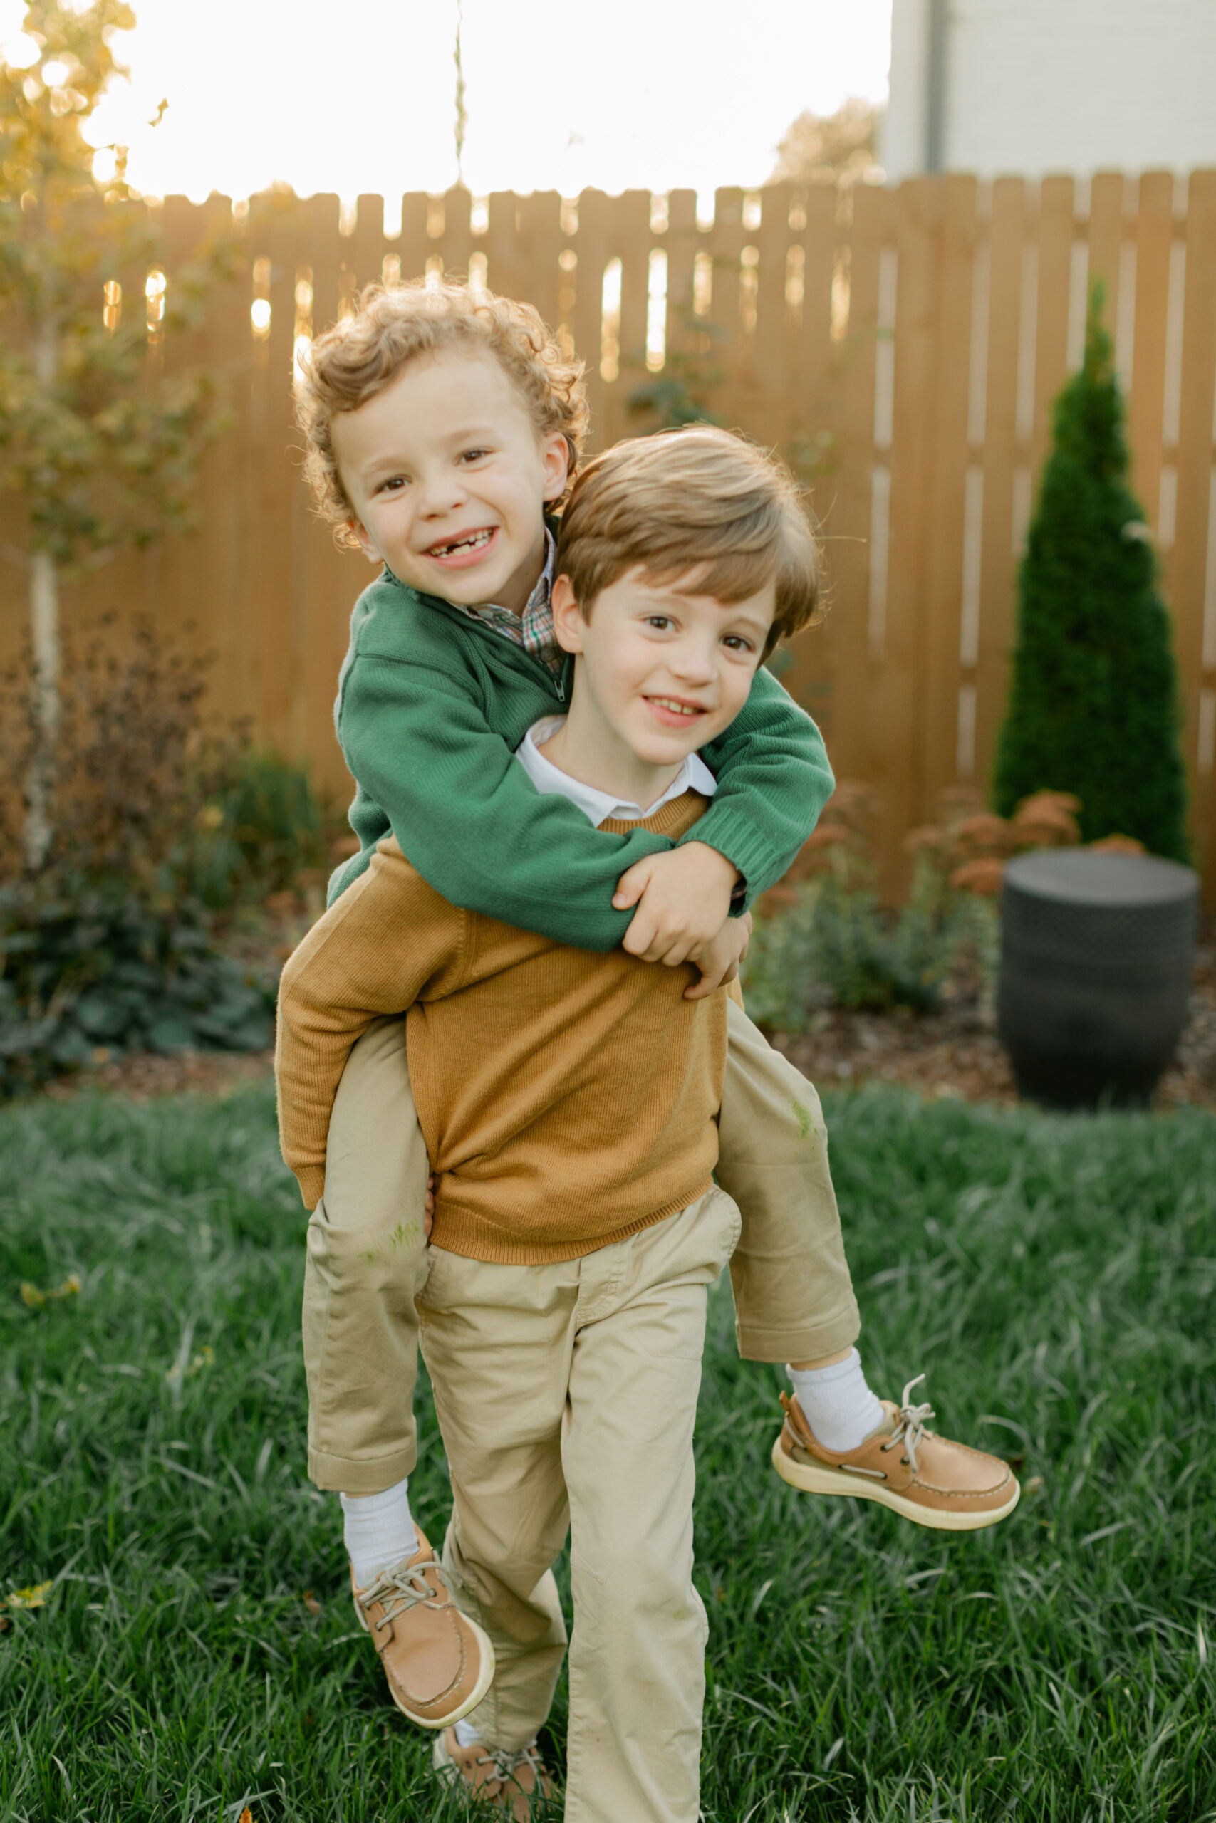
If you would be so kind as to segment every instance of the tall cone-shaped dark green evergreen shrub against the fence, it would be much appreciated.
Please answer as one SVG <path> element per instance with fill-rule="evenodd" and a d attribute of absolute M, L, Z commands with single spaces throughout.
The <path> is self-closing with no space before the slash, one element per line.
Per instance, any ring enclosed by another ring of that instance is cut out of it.
<path fill-rule="evenodd" d="M 1085 363 L 1056 399 L 1017 578 L 1017 642 L 994 798 L 1008 817 L 1032 791 L 1081 798 L 1081 837 L 1132 835 L 1187 859 L 1178 680 L 1156 558 L 1127 483 L 1110 337 L 1094 288 Z"/>

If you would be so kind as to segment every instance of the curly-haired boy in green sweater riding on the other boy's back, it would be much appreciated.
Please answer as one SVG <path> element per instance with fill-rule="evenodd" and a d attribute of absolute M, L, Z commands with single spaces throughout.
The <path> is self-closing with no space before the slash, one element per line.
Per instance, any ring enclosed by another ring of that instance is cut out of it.
<path fill-rule="evenodd" d="M 667 704 L 698 735 L 715 784 L 695 826 L 653 828 L 627 802 L 591 815 L 543 767 L 512 757 L 532 724 L 571 700 L 572 664 L 554 623 L 558 527 L 545 509 L 565 501 L 582 454 L 580 372 L 527 306 L 459 286 L 372 288 L 356 317 L 314 345 L 301 386 L 314 487 L 345 536 L 385 565 L 356 605 L 339 680 L 361 850 L 335 875 L 332 904 L 341 910 L 394 835 L 448 904 L 576 950 L 622 946 L 667 968 L 691 959 L 702 973 L 687 995 L 711 997 L 746 944 L 738 913 L 809 833 L 831 773 L 813 722 L 757 667 L 722 729 L 709 731 L 695 693 Z M 616 527 L 645 520 L 647 463 L 675 461 L 675 445 L 644 439 L 629 461 L 633 492 L 614 496 Z M 695 489 L 685 512 L 676 543 L 698 552 L 706 574 L 727 565 L 731 589 L 771 574 L 762 523 L 737 523 Z M 582 541 L 580 561 L 594 567 L 600 545 L 614 549 L 613 525 Z M 596 592 L 594 576 L 587 587 Z M 321 1030 L 325 1015 L 315 1019 Z M 356 1606 L 394 1701 L 447 1728 L 479 1701 L 489 1644 L 443 1601 L 408 1508 L 414 1298 L 428 1271 L 414 1074 L 405 1023 L 383 1019 L 354 1046 L 332 1121 L 310 1123 L 292 1165 L 314 1210 L 310 1475 L 343 1495 Z M 744 1218 L 731 1262 L 740 1351 L 791 1364 L 778 1471 L 930 1526 L 1010 1511 L 1017 1488 L 1003 1466 L 944 1440 L 917 1457 L 926 1407 L 897 1409 L 866 1385 L 819 1101 L 738 1006 L 727 1014 L 716 1178 Z M 906 1462 L 888 1442 L 904 1433 Z"/>

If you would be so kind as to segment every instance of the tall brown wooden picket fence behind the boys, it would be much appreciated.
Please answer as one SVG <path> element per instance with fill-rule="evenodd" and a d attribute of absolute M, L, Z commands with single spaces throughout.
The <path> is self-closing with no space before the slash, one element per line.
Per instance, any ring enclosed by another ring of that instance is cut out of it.
<path fill-rule="evenodd" d="M 171 286 L 233 210 L 162 208 Z M 1174 613 L 1196 853 L 1216 888 L 1216 171 L 773 184 L 720 190 L 711 221 L 691 190 L 407 195 L 399 224 L 379 197 L 343 210 L 273 193 L 235 215 L 242 268 L 201 330 L 157 350 L 170 368 L 213 368 L 232 410 L 201 529 L 67 591 L 69 623 L 113 607 L 191 623 L 217 654 L 217 706 L 346 795 L 330 709 L 370 571 L 310 516 L 295 348 L 370 279 L 469 275 L 531 299 L 583 355 L 596 447 L 645 428 L 640 390 L 675 379 L 813 483 L 833 607 L 795 642 L 784 682 L 837 773 L 877 789 L 891 891 L 904 833 L 944 789 L 990 777 L 1050 405 L 1103 277 L 1134 487 Z M 4 587 L 11 638 L 24 580 L 5 569 Z"/>

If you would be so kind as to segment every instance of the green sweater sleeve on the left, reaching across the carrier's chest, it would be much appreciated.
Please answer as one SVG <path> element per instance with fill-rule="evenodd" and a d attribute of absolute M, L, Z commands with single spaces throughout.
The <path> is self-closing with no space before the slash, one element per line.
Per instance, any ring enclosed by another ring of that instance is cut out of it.
<path fill-rule="evenodd" d="M 613 910 L 616 881 L 673 846 L 651 829 L 594 829 L 567 798 L 541 797 L 456 673 L 359 656 L 339 735 L 359 786 L 443 899 L 554 942 L 614 950 L 633 917 Z"/>

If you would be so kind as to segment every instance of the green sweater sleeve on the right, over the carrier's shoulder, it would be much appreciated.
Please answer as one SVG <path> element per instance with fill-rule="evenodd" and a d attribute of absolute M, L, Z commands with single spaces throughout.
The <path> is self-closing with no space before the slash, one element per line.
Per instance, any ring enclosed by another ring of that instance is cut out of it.
<path fill-rule="evenodd" d="M 835 789 L 824 738 L 809 715 L 760 667 L 742 711 L 702 749 L 718 780 L 706 815 L 680 842 L 706 842 L 733 860 L 747 893 L 782 877 Z"/>

